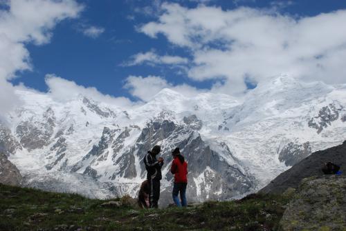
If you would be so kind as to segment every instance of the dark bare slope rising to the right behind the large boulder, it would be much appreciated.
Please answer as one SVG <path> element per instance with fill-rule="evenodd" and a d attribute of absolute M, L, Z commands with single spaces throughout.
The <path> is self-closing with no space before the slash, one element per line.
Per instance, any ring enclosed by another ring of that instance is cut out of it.
<path fill-rule="evenodd" d="M 283 172 L 276 177 L 271 183 L 262 188 L 262 193 L 282 193 L 287 188 L 298 188 L 302 179 L 318 176 L 322 177 L 322 164 L 331 161 L 341 166 L 341 171 L 346 166 L 346 141 L 342 145 L 338 145 L 327 150 L 313 152 L 309 157 L 303 159 L 299 163 L 293 165 L 292 168 Z"/>

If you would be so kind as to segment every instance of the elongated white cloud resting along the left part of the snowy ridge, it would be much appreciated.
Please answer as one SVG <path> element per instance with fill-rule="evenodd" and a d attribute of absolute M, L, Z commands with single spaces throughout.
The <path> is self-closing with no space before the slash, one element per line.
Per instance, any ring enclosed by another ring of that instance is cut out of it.
<path fill-rule="evenodd" d="M 111 97 L 108 94 L 102 94 L 96 88 L 80 86 L 74 81 L 62 79 L 55 74 L 46 74 L 46 84 L 48 86 L 48 94 L 60 102 L 71 101 L 76 97 L 87 97 L 95 101 L 110 103 L 120 107 L 132 106 L 133 103 L 125 97 Z"/>

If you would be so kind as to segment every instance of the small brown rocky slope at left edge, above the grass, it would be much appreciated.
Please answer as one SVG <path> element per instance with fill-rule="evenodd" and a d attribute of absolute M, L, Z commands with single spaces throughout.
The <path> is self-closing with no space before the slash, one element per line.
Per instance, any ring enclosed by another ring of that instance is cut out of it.
<path fill-rule="evenodd" d="M 0 183 L 6 185 L 20 185 L 21 174 L 17 167 L 8 161 L 5 154 L 0 152 Z"/>

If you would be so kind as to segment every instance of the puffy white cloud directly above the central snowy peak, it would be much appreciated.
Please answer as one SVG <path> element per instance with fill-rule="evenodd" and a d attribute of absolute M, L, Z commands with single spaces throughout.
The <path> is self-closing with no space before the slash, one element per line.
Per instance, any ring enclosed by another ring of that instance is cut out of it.
<path fill-rule="evenodd" d="M 164 88 L 170 88 L 176 92 L 179 92 L 187 97 L 195 96 L 206 90 L 200 90 L 186 84 L 175 85 L 167 82 L 163 77 L 157 76 L 129 76 L 126 79 L 124 88 L 128 89 L 129 92 L 140 99 L 141 101 L 150 101 L 154 95 Z"/>

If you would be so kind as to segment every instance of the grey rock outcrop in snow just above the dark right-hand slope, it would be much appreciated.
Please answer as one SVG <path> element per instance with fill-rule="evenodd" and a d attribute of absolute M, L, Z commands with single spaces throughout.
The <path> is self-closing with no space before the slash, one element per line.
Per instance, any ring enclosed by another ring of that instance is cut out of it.
<path fill-rule="evenodd" d="M 301 145 L 295 143 L 288 143 L 280 150 L 279 160 L 284 161 L 286 166 L 293 166 L 305 157 L 311 154 L 310 143 L 303 143 Z"/>

